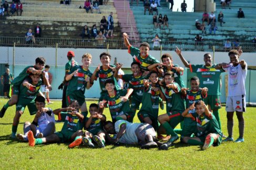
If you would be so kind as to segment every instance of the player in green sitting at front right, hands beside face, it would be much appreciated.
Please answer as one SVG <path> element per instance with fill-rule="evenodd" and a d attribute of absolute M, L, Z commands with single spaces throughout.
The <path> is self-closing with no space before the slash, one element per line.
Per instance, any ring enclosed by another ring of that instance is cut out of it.
<path fill-rule="evenodd" d="M 189 111 L 193 109 L 196 109 L 196 113 L 193 112 L 189 114 Z M 219 123 L 202 100 L 194 101 L 194 103 L 182 113 L 182 116 L 192 118 L 197 122 L 196 137 L 183 137 L 183 142 L 201 145 L 202 150 L 208 149 L 211 145 L 220 145 L 222 134 Z"/>

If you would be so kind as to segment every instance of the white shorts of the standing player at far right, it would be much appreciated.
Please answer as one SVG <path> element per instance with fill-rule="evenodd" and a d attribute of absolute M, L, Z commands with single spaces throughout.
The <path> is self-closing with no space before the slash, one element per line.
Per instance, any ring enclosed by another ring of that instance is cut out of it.
<path fill-rule="evenodd" d="M 226 101 L 226 111 L 246 111 L 246 96 L 228 96 Z"/>

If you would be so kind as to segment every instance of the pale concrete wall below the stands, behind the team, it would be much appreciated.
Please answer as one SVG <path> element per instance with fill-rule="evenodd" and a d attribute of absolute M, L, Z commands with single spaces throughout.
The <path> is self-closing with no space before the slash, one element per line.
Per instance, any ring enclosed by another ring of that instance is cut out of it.
<path fill-rule="evenodd" d="M 93 62 L 91 63 L 90 70 L 93 72 L 95 67 L 100 64 L 99 55 L 101 52 L 106 50 L 104 49 L 57 49 L 57 62 L 56 62 L 56 49 L 55 48 L 20 48 L 16 47 L 14 52 L 14 75 L 17 76 L 19 72 L 24 69 L 24 65 L 33 65 L 35 63 L 35 59 L 37 56 L 44 56 L 46 59 L 46 64 L 51 66 L 50 73 L 53 74 L 53 91 L 50 92 L 50 97 L 52 98 L 61 98 L 62 90 L 58 90 L 58 85 L 63 81 L 64 73 L 65 73 L 65 64 L 67 62 L 67 52 L 68 50 L 73 50 L 75 52 L 75 60 L 81 64 L 81 55 L 84 53 L 91 53 L 93 55 Z M 10 65 L 10 70 L 13 72 L 13 48 L 11 47 L 0 47 L 0 63 L 8 63 Z M 109 50 L 112 61 L 114 62 L 114 58 L 117 58 L 117 62 L 123 63 L 123 67 L 126 73 L 130 73 L 130 63 L 132 62 L 132 58 L 130 54 L 127 53 L 127 50 Z M 163 53 L 170 53 L 173 56 L 174 63 L 184 66 L 179 59 L 179 56 L 174 51 L 162 51 Z M 192 64 L 203 64 L 203 54 L 207 52 L 199 52 L 199 51 L 184 51 L 182 52 L 183 56 Z M 212 54 L 212 52 L 209 52 Z M 150 51 L 152 56 L 155 56 L 158 60 L 160 60 L 160 51 Z M 213 55 L 213 54 L 212 54 Z M 256 66 L 255 53 L 243 53 L 241 59 L 245 60 L 249 66 Z M 214 54 L 214 63 L 222 63 L 229 62 L 229 56 L 227 52 L 216 52 Z M 57 65 L 57 66 L 56 66 Z M 221 101 L 225 102 L 226 97 L 225 89 L 224 89 L 224 74 L 222 73 L 222 96 Z M 251 71 L 251 80 L 250 79 L 250 71 L 248 71 L 247 80 L 246 80 L 246 88 L 247 88 L 247 101 L 256 102 L 256 89 L 252 88 L 256 86 L 256 79 L 253 78 L 256 75 L 256 71 Z M 187 72 L 182 76 L 185 83 L 187 83 Z M 250 89 L 249 89 L 250 86 Z M 250 95 L 249 95 L 250 90 Z M 254 94 L 254 95 L 253 95 Z M 99 83 L 95 82 L 93 87 L 90 90 L 86 90 L 86 97 L 88 98 L 97 98 L 99 97 Z"/>

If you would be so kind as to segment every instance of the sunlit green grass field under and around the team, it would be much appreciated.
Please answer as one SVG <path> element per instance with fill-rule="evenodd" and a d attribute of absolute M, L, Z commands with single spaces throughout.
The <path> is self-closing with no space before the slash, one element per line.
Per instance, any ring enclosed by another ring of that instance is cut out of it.
<path fill-rule="evenodd" d="M 6 103 L 0 99 L 0 107 Z M 93 103 L 88 101 L 87 106 Z M 60 101 L 49 105 L 56 109 Z M 29 147 L 28 143 L 11 138 L 15 107 L 8 108 L 0 119 L 0 169 L 255 169 L 256 168 L 256 108 L 247 108 L 244 143 L 222 143 L 201 151 L 199 146 L 177 142 L 168 151 L 157 149 L 140 150 L 138 146 L 108 145 L 104 149 L 88 149 L 80 146 L 68 149 L 68 144 L 47 144 Z M 164 111 L 160 110 L 160 114 Z M 110 120 L 108 109 L 105 115 Z M 222 129 L 227 134 L 227 119 L 224 108 L 220 110 Z M 23 123 L 33 121 L 26 109 L 18 126 L 23 133 Z M 139 122 L 135 118 L 135 122 Z M 63 123 L 56 123 L 56 130 Z M 234 117 L 234 139 L 238 138 L 238 121 Z"/>

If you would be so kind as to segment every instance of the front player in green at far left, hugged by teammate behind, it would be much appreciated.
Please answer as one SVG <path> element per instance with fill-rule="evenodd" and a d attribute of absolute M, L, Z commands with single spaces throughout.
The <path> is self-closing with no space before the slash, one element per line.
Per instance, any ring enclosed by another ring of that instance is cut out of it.
<path fill-rule="evenodd" d="M 42 80 L 38 74 L 30 74 L 21 86 L 19 87 L 19 97 L 16 104 L 16 114 L 13 119 L 12 127 L 12 138 L 16 138 L 16 132 L 19 124 L 19 119 L 21 118 L 26 106 L 28 107 L 29 114 L 34 115 L 37 112 L 35 98 L 36 96 L 43 96 L 40 92 L 40 87 L 42 85 Z"/>

